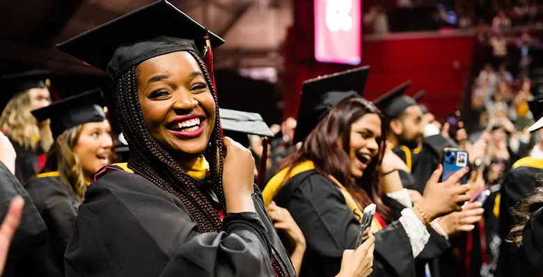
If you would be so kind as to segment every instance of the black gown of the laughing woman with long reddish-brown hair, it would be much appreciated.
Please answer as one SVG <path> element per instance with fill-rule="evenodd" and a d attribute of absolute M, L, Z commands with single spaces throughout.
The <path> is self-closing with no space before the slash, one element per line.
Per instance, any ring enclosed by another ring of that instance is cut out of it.
<path fill-rule="evenodd" d="M 300 276 L 336 276 L 343 251 L 354 248 L 359 234 L 359 221 L 347 207 L 336 184 L 314 170 L 306 171 L 290 178 L 274 201 L 289 210 L 306 237 Z M 280 232 L 280 237 L 292 250 L 285 234 Z M 448 248 L 445 239 L 432 237 L 434 248 L 425 248 L 420 258 L 434 257 Z M 372 276 L 416 276 L 411 244 L 400 221 L 387 225 L 375 238 Z"/>

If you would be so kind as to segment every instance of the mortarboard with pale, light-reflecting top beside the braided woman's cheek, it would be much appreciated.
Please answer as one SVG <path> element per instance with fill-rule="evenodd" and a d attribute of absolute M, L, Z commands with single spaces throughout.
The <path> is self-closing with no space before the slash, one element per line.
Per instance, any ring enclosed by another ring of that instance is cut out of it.
<path fill-rule="evenodd" d="M 274 137 L 274 133 L 258 113 L 230 109 L 220 109 L 219 113 L 224 136 L 230 137 L 230 139 L 241 143 L 245 147 L 249 147 L 249 135 L 251 134 L 269 138 Z"/>

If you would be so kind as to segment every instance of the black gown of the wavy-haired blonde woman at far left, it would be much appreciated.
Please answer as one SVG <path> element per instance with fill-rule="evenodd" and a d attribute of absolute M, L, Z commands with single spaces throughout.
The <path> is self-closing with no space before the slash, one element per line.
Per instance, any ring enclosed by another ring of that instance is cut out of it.
<path fill-rule="evenodd" d="M 39 155 L 42 155 L 42 150 L 31 150 L 22 147 L 16 141 L 13 141 L 8 135 L 15 153 L 17 153 L 17 158 L 15 159 L 15 177 L 21 184 L 25 184 L 31 180 L 38 172 L 40 171 L 40 161 L 38 159 Z"/>

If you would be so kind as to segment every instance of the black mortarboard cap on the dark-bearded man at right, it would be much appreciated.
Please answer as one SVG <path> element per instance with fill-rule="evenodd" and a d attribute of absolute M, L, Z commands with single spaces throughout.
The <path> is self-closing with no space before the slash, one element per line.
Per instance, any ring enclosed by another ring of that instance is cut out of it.
<path fill-rule="evenodd" d="M 411 86 L 411 80 L 406 81 L 400 86 L 388 91 L 388 93 L 381 95 L 373 102 L 373 104 L 375 104 L 389 120 L 398 118 L 398 116 L 400 116 L 400 114 L 402 114 L 409 106 L 417 104 L 413 98 L 403 95 L 409 86 Z"/>

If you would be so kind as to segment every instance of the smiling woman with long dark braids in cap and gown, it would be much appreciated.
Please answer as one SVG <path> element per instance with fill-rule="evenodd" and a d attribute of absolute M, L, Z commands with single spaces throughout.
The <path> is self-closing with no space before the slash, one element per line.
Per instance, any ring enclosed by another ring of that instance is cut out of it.
<path fill-rule="evenodd" d="M 107 70 L 130 151 L 89 186 L 67 276 L 294 276 L 250 151 L 221 137 L 211 47 L 222 43 L 157 1 L 58 45 Z"/>

